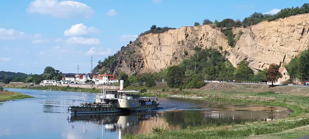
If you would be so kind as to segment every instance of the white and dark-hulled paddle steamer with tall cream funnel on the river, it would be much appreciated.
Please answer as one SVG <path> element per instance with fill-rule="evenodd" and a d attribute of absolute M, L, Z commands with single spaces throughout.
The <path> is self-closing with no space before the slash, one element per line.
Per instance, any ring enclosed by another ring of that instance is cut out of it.
<path fill-rule="evenodd" d="M 123 78 L 120 79 L 120 88 L 117 90 L 104 90 L 95 95 L 94 102 L 86 102 L 86 93 L 84 103 L 79 106 L 69 106 L 68 111 L 71 114 L 79 113 L 107 113 L 121 111 L 135 111 L 155 109 L 159 105 L 157 95 L 155 97 L 141 97 L 139 91 L 125 91 L 123 89 Z"/>

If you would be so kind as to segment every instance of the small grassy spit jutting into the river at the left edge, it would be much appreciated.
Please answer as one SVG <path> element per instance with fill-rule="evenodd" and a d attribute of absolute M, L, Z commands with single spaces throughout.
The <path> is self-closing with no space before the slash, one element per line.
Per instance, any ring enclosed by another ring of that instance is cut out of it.
<path fill-rule="evenodd" d="M 18 92 L 0 91 L 0 101 L 7 101 L 13 99 L 33 98 L 33 96 L 25 95 Z"/>

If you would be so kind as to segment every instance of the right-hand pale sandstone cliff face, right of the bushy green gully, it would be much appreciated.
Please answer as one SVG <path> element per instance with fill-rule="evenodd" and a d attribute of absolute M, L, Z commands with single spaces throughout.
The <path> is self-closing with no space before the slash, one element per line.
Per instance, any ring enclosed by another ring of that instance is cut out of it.
<path fill-rule="evenodd" d="M 264 21 L 234 32 L 239 29 L 243 34 L 228 57 L 234 66 L 247 59 L 253 70 L 263 70 L 272 63 L 288 63 L 309 48 L 309 14 Z"/>

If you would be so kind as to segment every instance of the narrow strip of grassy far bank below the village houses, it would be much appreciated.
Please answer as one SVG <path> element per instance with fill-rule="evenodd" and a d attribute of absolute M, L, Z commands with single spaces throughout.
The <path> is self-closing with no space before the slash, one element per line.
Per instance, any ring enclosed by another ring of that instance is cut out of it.
<path fill-rule="evenodd" d="M 67 86 L 19 86 L 19 87 L 10 87 L 10 88 L 35 89 L 35 90 L 54 90 L 54 91 L 74 91 L 74 92 L 92 92 L 92 93 L 100 93 L 101 91 L 103 91 L 103 89 L 67 87 Z"/>

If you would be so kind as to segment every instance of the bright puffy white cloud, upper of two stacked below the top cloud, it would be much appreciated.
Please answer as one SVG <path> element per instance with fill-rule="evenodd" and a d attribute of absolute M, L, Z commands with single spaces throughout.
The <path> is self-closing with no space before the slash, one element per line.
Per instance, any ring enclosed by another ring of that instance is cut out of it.
<path fill-rule="evenodd" d="M 79 24 L 72 25 L 70 29 L 67 29 L 64 32 L 64 36 L 82 36 L 82 35 L 94 34 L 98 32 L 99 32 L 99 29 L 95 27 L 87 28 L 82 23 L 79 23 Z"/>

